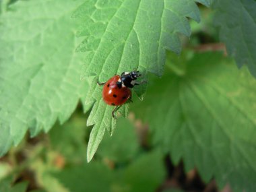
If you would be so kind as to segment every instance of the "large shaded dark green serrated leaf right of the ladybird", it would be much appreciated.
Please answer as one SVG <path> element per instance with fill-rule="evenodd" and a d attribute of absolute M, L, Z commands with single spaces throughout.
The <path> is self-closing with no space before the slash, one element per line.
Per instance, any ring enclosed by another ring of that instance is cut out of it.
<path fill-rule="evenodd" d="M 205 63 L 205 61 L 207 61 Z M 196 54 L 181 76 L 151 79 L 144 102 L 133 106 L 148 122 L 154 145 L 196 167 L 205 182 L 254 191 L 256 79 L 219 53 Z"/>

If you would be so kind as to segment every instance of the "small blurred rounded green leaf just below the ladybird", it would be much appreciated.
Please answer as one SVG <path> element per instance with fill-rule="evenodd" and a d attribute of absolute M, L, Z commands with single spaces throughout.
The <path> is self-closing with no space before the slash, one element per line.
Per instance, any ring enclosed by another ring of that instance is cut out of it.
<path fill-rule="evenodd" d="M 118 119 L 117 130 L 110 137 L 105 134 L 96 154 L 115 162 L 125 162 L 134 158 L 139 150 L 135 127 L 128 119 Z"/>

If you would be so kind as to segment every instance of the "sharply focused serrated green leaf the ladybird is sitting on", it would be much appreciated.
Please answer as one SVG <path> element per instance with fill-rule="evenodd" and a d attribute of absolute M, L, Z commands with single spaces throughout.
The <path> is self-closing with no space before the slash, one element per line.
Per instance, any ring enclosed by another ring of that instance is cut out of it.
<path fill-rule="evenodd" d="M 210 5 L 210 0 L 199 1 Z M 92 77 L 87 103 L 94 103 L 88 125 L 94 125 L 88 144 L 88 161 L 92 159 L 105 129 L 112 135 L 115 119 L 113 106 L 106 106 L 96 80 L 106 82 L 115 74 L 138 69 L 162 75 L 166 49 L 181 52 L 179 34 L 191 34 L 189 21 L 199 22 L 199 9 L 191 0 L 122 0 L 86 1 L 73 15 L 82 18 L 78 36 L 84 42 L 77 48 L 86 51 L 82 78 Z M 146 87 L 146 86 L 144 86 Z M 145 88 L 138 91 L 143 95 Z M 128 104 L 119 112 L 127 115 Z"/>

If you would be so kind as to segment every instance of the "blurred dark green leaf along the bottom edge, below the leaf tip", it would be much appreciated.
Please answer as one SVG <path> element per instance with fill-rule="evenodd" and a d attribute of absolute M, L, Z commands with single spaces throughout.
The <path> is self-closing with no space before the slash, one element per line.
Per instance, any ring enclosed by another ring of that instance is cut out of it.
<path fill-rule="evenodd" d="M 148 166 L 151 164 L 152 166 Z M 65 189 L 79 191 L 155 191 L 164 179 L 161 154 L 142 155 L 132 164 L 119 170 L 110 170 L 100 162 L 71 166 L 52 174 Z"/>

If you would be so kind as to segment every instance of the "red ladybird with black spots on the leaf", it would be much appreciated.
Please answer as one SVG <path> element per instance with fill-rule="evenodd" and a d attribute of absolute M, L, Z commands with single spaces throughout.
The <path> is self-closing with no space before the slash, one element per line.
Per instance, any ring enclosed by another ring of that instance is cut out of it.
<path fill-rule="evenodd" d="M 97 82 L 99 86 L 103 86 L 102 98 L 106 104 L 115 106 L 112 111 L 113 118 L 115 112 L 125 104 L 127 100 L 131 100 L 131 88 L 139 85 L 136 82 L 137 77 L 141 76 L 139 71 L 123 72 L 121 75 L 115 75 L 108 79 L 107 82 Z"/>

